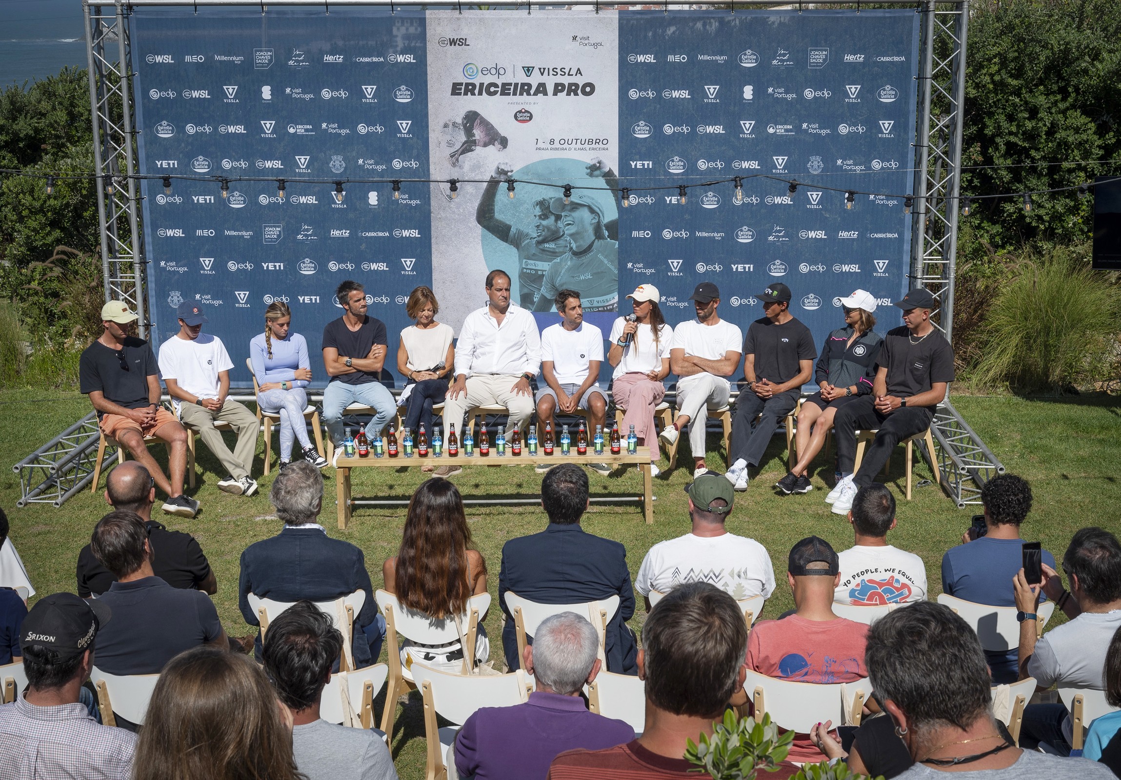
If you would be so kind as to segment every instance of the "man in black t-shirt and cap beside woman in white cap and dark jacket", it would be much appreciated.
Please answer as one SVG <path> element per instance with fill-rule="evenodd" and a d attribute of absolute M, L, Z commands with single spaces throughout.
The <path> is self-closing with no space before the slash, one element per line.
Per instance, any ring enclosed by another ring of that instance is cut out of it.
<path fill-rule="evenodd" d="M 789 287 L 775 284 L 756 297 L 766 316 L 751 323 L 743 340 L 747 384 L 735 400 L 729 444 L 732 465 L 725 474 L 735 490 L 748 489 L 748 467 L 759 465 L 778 421 L 798 402 L 817 357 L 809 328 L 789 312 Z"/>

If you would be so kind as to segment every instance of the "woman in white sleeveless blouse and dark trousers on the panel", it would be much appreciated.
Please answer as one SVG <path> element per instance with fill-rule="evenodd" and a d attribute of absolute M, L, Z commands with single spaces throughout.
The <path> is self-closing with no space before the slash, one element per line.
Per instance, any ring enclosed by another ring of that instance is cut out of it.
<path fill-rule="evenodd" d="M 455 366 L 454 334 L 451 325 L 436 322 L 439 304 L 428 287 L 418 287 L 409 294 L 405 312 L 416 322 L 401 331 L 401 345 L 397 347 L 397 370 L 407 386 L 414 386 L 407 400 L 405 427 L 416 436 L 423 425 L 430 437 L 433 403 L 444 402 L 447 379 Z"/>

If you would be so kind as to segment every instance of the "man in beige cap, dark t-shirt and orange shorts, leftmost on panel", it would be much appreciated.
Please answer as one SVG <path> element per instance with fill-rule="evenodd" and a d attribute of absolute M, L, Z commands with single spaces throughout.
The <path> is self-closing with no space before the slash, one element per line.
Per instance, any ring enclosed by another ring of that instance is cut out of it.
<path fill-rule="evenodd" d="M 132 335 L 137 315 L 120 300 L 101 308 L 104 333 L 82 352 L 78 362 L 81 390 L 98 410 L 101 433 L 132 454 L 167 493 L 164 511 L 193 518 L 198 502 L 183 494 L 187 473 L 187 431 L 175 415 L 159 405 L 159 365 L 151 346 Z M 167 444 L 168 476 L 148 453 L 145 436 Z"/>

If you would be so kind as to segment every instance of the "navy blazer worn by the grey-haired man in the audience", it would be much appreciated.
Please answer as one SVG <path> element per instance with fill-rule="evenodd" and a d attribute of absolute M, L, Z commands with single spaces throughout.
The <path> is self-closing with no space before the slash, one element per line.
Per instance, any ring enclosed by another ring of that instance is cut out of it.
<path fill-rule="evenodd" d="M 332 539 L 321 528 L 285 527 L 271 539 L 262 539 L 241 554 L 238 606 L 250 625 L 260 625 L 249 606 L 249 594 L 280 602 L 300 598 L 331 601 L 354 591 L 365 592 L 365 603 L 354 616 L 351 646 L 354 665 L 373 663 L 370 644 L 362 626 L 378 616 L 365 556 L 354 545 Z M 261 634 L 257 633 L 257 657 L 261 656 Z"/>

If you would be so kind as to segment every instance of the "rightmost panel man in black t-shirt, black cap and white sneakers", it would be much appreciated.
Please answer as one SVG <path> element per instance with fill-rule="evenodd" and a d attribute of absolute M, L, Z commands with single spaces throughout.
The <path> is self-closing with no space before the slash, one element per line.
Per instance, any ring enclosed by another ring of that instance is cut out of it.
<path fill-rule="evenodd" d="M 872 394 L 837 409 L 833 434 L 842 479 L 825 498 L 835 514 L 849 513 L 856 491 L 872 483 L 899 442 L 930 427 L 935 407 L 954 381 L 954 350 L 930 322 L 930 309 L 936 305 L 923 287 L 896 301 L 904 310 L 905 326 L 888 331 L 880 346 Z M 877 428 L 860 471 L 853 474 L 856 431 Z"/>

